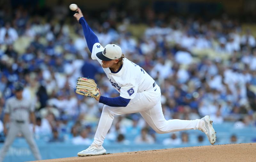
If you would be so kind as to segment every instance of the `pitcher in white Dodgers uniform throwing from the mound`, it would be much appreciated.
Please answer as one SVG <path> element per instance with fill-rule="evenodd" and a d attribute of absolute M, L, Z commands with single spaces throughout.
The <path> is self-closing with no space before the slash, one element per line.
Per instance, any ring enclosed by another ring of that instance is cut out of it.
<path fill-rule="evenodd" d="M 92 59 L 99 61 L 113 88 L 120 93 L 120 96 L 115 98 L 101 96 L 97 84 L 92 79 L 78 78 L 76 93 L 94 97 L 100 103 L 105 104 L 93 143 L 86 150 L 78 152 L 78 156 L 105 154 L 106 150 L 102 144 L 114 116 L 137 112 L 140 112 L 157 133 L 198 129 L 206 134 L 211 144 L 215 143 L 215 131 L 209 116 L 196 120 L 165 120 L 160 102 L 161 91 L 156 82 L 143 68 L 124 58 L 119 46 L 115 44 L 101 46 L 79 8 L 77 12 L 74 17 L 83 27 Z"/>

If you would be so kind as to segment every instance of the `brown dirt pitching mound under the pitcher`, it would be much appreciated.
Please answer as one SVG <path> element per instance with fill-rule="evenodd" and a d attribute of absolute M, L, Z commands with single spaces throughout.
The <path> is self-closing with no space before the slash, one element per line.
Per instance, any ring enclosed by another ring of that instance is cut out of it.
<path fill-rule="evenodd" d="M 124 152 L 89 157 L 71 157 L 36 162 L 158 162 L 158 161 L 255 161 L 256 143 L 223 144 L 164 150 Z"/>

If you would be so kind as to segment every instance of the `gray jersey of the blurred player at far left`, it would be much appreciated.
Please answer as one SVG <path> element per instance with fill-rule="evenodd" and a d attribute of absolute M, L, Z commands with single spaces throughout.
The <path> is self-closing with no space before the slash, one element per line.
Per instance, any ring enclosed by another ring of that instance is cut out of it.
<path fill-rule="evenodd" d="M 35 107 L 29 100 L 25 98 L 18 100 L 15 96 L 13 96 L 7 99 L 4 112 L 10 114 L 10 119 L 12 121 L 19 120 L 28 122 L 29 114 L 34 110 Z"/>

